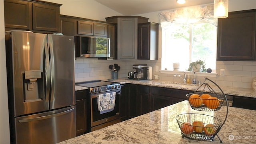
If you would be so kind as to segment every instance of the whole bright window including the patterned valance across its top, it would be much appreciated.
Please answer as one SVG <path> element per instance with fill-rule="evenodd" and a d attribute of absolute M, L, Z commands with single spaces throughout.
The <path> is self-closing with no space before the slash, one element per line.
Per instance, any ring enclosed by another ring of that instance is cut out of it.
<path fill-rule="evenodd" d="M 216 70 L 217 22 L 214 5 L 167 10 L 159 14 L 162 27 L 162 70 L 188 70 L 191 62 L 204 60 L 206 69 Z"/>

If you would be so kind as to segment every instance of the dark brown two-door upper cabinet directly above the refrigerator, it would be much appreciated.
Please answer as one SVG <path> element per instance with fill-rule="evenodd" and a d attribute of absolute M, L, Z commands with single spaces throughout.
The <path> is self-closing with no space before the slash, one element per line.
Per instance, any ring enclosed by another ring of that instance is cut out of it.
<path fill-rule="evenodd" d="M 60 32 L 60 6 L 43 1 L 4 0 L 5 30 Z"/>

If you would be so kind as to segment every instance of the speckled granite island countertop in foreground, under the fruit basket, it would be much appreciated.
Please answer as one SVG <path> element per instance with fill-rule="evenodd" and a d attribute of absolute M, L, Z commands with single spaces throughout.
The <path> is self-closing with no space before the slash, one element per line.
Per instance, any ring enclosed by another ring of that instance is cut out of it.
<path fill-rule="evenodd" d="M 96 130 L 60 144 L 220 144 L 217 136 L 213 141 L 197 141 L 182 138 L 176 116 L 184 113 L 207 114 L 219 118 L 226 117 L 227 107 L 218 111 L 203 112 L 192 110 L 187 100 L 155 110 L 100 130 Z M 252 144 L 256 142 L 256 110 L 228 107 L 226 122 L 218 132 L 223 144 Z"/>

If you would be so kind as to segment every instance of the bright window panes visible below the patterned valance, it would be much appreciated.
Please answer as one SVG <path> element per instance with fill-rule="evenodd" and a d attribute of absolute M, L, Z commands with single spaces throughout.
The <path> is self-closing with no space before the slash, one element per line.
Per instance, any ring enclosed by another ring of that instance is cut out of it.
<path fill-rule="evenodd" d="M 175 24 L 162 29 L 162 69 L 173 70 L 179 62 L 180 70 L 190 62 L 204 60 L 206 68 L 216 69 L 217 27 L 209 23 Z"/>

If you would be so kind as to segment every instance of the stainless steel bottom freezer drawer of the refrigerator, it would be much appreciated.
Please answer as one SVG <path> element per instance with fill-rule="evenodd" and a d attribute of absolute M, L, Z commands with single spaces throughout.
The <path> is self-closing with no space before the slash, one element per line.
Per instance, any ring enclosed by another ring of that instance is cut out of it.
<path fill-rule="evenodd" d="M 76 136 L 75 106 L 15 118 L 17 144 L 54 144 Z"/>

